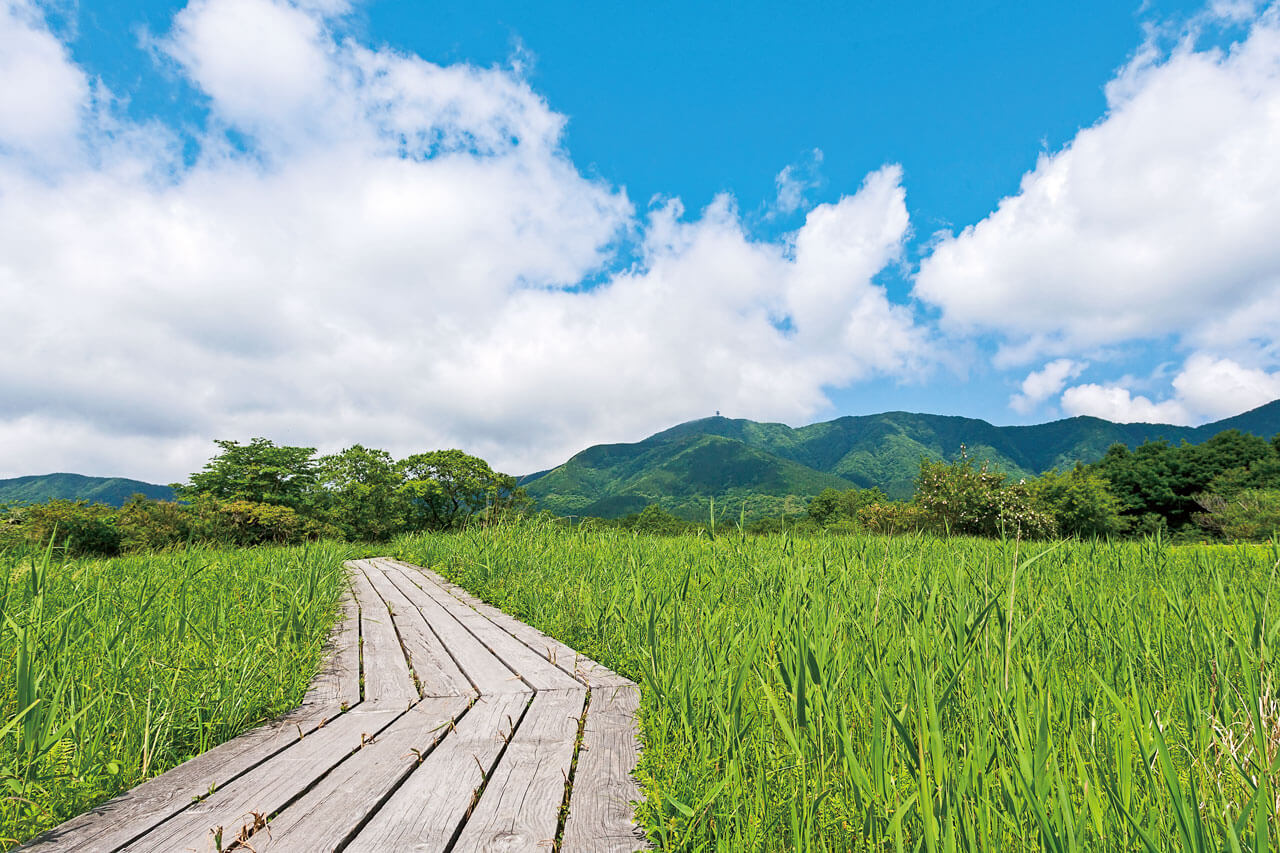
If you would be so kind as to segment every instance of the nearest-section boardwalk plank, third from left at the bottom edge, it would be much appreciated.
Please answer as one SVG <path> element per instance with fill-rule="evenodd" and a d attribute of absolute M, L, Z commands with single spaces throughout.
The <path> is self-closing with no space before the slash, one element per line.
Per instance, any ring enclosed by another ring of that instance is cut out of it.
<path fill-rule="evenodd" d="M 337 849 L 449 731 L 471 701 L 428 698 L 334 767 L 250 839 L 257 853 Z M 453 784 L 451 781 L 451 784 Z"/>

